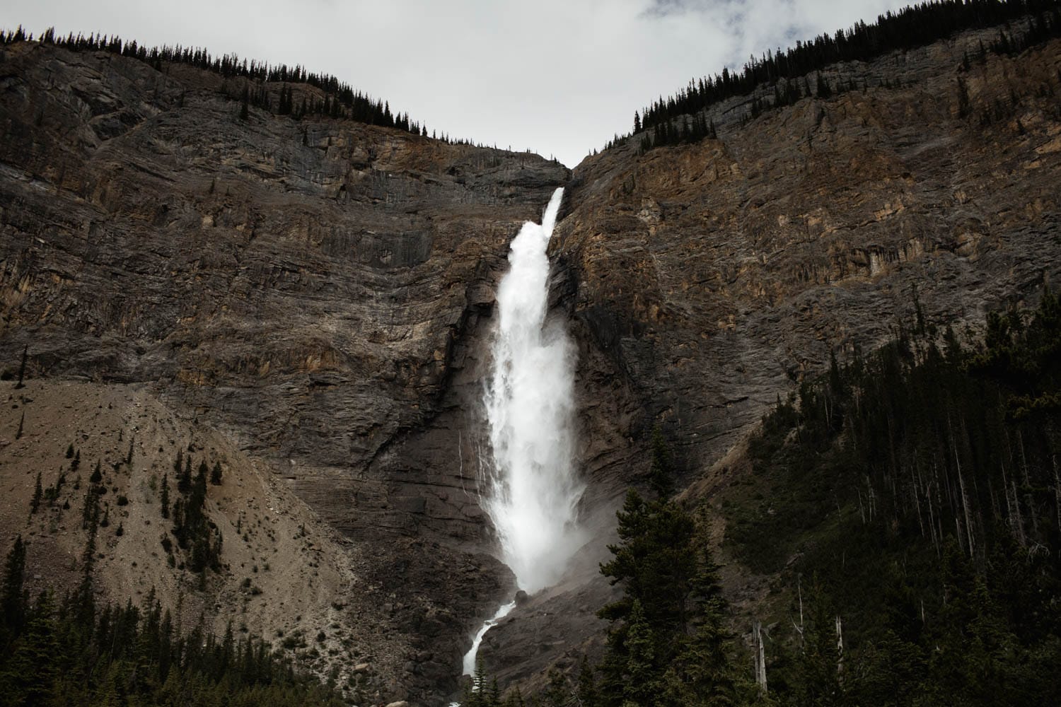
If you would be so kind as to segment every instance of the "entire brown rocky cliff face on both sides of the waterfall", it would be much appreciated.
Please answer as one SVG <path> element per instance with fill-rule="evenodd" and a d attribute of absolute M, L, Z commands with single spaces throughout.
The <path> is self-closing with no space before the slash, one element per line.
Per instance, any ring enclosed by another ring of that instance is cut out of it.
<path fill-rule="evenodd" d="M 597 541 L 483 651 L 503 681 L 567 668 L 599 635 L 595 563 L 654 424 L 686 481 L 729 482 L 719 460 L 776 396 L 909 321 L 915 290 L 928 319 L 975 324 L 1056 282 L 1061 45 L 963 69 L 986 36 L 834 67 L 858 89 L 750 121 L 753 96 L 727 102 L 717 140 L 632 140 L 573 177 L 350 122 L 243 122 L 220 76 L 15 45 L 0 356 L 147 383 L 268 464 L 364 552 L 407 649 L 390 695 L 437 704 L 509 581 L 474 493 L 492 287 L 568 184 L 553 301 L 578 340 Z"/>

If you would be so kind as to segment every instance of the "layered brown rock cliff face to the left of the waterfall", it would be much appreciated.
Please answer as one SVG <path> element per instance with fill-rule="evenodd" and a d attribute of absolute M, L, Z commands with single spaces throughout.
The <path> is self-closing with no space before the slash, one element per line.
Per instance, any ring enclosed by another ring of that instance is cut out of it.
<path fill-rule="evenodd" d="M 102 52 L 14 45 L 0 76 L 0 358 L 28 346 L 33 377 L 149 383 L 272 466 L 363 541 L 380 599 L 361 620 L 404 636 L 395 684 L 440 701 L 510 583 L 482 554 L 456 384 L 508 238 L 569 172 L 346 121 L 240 121 L 240 85 Z"/>

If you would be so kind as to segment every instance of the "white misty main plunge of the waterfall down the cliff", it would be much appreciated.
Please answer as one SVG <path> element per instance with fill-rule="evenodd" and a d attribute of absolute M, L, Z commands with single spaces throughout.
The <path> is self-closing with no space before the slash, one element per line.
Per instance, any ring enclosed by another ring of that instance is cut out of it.
<path fill-rule="evenodd" d="M 546 248 L 562 196 L 557 189 L 541 225 L 524 224 L 511 243 L 484 401 L 493 452 L 484 505 L 502 559 L 528 594 L 555 584 L 585 541 L 575 523 L 584 487 L 572 464 L 575 352 L 545 317 Z"/>

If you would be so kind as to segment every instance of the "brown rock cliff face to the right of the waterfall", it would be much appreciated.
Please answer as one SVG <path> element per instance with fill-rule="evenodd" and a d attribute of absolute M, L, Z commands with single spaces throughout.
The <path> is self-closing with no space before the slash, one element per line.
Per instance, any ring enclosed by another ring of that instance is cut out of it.
<path fill-rule="evenodd" d="M 834 66 L 823 77 L 857 90 L 752 118 L 764 86 L 711 109 L 717 139 L 641 154 L 634 136 L 575 170 L 554 255 L 584 349 L 599 352 L 582 375 L 622 381 L 638 403 L 640 416 L 615 419 L 641 445 L 613 457 L 646 474 L 646 430 L 660 424 L 689 496 L 712 498 L 749 473 L 741 441 L 764 411 L 830 352 L 883 343 L 918 301 L 961 331 L 1058 282 L 1061 42 L 963 67 L 997 36 Z M 607 400 L 582 404 L 608 416 Z M 614 493 L 616 478 L 596 489 Z M 745 609 L 768 580 L 727 568 Z M 592 615 L 610 591 L 597 577 L 518 609 L 487 635 L 487 669 L 535 679 L 557 653 L 577 667 L 573 637 L 602 637 Z"/>

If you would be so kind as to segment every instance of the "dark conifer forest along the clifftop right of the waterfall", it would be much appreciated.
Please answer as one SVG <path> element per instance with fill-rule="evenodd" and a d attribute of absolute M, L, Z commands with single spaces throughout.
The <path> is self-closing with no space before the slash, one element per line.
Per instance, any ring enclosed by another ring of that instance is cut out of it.
<path fill-rule="evenodd" d="M 1029 18 L 1027 31 L 1008 24 L 1024 17 Z M 1012 55 L 1061 36 L 1061 2 L 939 0 L 888 12 L 872 24 L 858 22 L 848 30 L 838 30 L 835 35 L 822 34 L 810 41 L 797 41 L 796 47 L 787 50 L 768 51 L 749 60 L 740 72 L 723 69 L 720 74 L 691 81 L 676 94 L 661 98 L 640 113 L 636 112 L 632 132 L 616 136 L 609 146 L 638 134 L 642 134 L 639 143 L 642 151 L 713 138 L 715 127 L 701 111 L 727 99 L 750 95 L 758 87 L 772 86 L 772 95 L 752 101 L 749 118 L 804 98 L 828 99 L 866 88 L 853 82 L 831 84 L 820 73 L 829 66 L 841 61 L 869 61 L 888 52 L 914 49 L 967 30 L 992 26 L 1001 28 L 997 38 L 979 49 L 979 57 L 967 57 L 967 64 L 982 59 L 988 51 Z M 883 85 L 890 86 L 888 83 Z"/>

